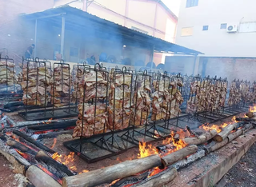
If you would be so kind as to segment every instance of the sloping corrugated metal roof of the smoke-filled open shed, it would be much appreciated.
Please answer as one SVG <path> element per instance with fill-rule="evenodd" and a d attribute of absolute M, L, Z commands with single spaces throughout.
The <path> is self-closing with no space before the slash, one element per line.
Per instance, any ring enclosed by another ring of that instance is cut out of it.
<path fill-rule="evenodd" d="M 141 43 L 150 49 L 153 49 L 154 46 L 154 50 L 162 53 L 173 52 L 175 54 L 202 54 L 196 50 L 190 50 L 186 47 L 166 42 L 160 38 L 154 38 L 148 34 L 131 30 L 125 26 L 118 25 L 106 19 L 98 18 L 95 15 L 70 6 L 61 6 L 34 14 L 22 15 L 21 17 L 26 19 L 45 18 L 47 19 L 47 22 L 52 22 L 55 25 L 61 26 L 62 22 L 60 19 L 51 17 L 52 15 L 58 14 L 65 14 L 66 27 L 74 30 L 83 29 L 85 32 L 93 30 L 95 33 L 98 33 L 98 37 L 106 37 L 108 39 L 111 39 L 111 37 L 119 38 L 126 42 L 130 42 L 130 44 Z"/>

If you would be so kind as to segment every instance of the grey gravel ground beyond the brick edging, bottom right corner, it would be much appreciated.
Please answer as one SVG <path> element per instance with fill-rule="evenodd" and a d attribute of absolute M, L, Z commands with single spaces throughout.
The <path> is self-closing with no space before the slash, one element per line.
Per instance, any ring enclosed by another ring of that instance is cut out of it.
<path fill-rule="evenodd" d="M 256 186 L 256 143 L 224 176 L 226 187 Z"/>

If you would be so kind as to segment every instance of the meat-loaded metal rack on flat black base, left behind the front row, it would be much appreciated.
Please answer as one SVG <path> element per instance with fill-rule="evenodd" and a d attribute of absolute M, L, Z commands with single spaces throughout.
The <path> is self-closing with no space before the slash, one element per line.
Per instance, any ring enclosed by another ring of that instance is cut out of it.
<path fill-rule="evenodd" d="M 58 66 L 58 67 L 57 67 Z M 67 66 L 68 70 L 69 70 L 69 76 L 66 79 L 68 82 L 68 91 L 66 92 L 66 94 L 63 94 L 63 90 L 64 90 L 64 78 L 63 78 L 63 68 Z M 43 86 L 43 90 L 44 90 L 44 103 L 42 105 L 42 103 L 38 103 L 38 94 L 36 95 L 36 102 L 35 103 L 28 103 L 27 100 L 24 102 L 25 104 L 25 112 L 20 112 L 18 113 L 20 116 L 22 116 L 24 119 L 26 119 L 27 121 L 33 121 L 33 120 L 46 120 L 46 119 L 57 119 L 57 118 L 62 118 L 62 117 L 76 117 L 78 113 L 73 112 L 70 109 L 70 67 L 68 64 L 65 64 L 62 62 L 60 63 L 54 63 L 54 70 L 55 68 L 59 68 L 61 69 L 61 78 L 59 78 L 59 80 L 57 80 L 56 74 L 52 74 L 51 72 L 51 64 L 50 62 L 40 62 L 38 58 L 35 59 L 35 61 L 28 61 L 27 62 L 27 66 L 26 66 L 26 90 L 28 90 L 29 88 L 29 74 L 31 70 L 35 70 L 36 73 L 36 93 L 39 92 L 38 90 L 38 82 L 42 82 L 42 77 L 44 77 L 44 84 Z M 41 72 L 40 76 L 39 76 L 39 71 L 44 69 L 43 72 Z M 22 68 L 22 70 L 24 71 L 25 69 Z M 23 72 L 22 72 L 23 73 Z M 41 80 L 40 80 L 41 78 Z M 56 80 L 55 80 L 56 79 Z M 23 80 L 24 81 L 24 80 Z M 53 86 L 53 88 L 55 88 L 55 84 L 56 82 L 60 82 L 61 86 L 60 86 L 60 90 L 59 93 L 57 95 L 57 93 L 54 90 L 50 90 L 50 87 Z M 41 83 L 42 84 L 42 83 Z M 41 86 L 41 87 L 42 87 Z M 28 96 L 28 93 L 26 92 L 26 97 Z M 59 104 L 59 108 L 56 107 L 56 97 L 58 97 L 58 99 L 60 99 L 60 103 Z M 66 107 L 61 107 L 62 104 L 64 104 L 64 98 L 68 101 L 66 101 Z M 51 109 L 49 107 L 52 107 Z M 39 109 L 38 109 L 39 108 Z M 41 109 L 40 109 L 41 108 Z M 38 109 L 38 110 L 35 110 Z"/>

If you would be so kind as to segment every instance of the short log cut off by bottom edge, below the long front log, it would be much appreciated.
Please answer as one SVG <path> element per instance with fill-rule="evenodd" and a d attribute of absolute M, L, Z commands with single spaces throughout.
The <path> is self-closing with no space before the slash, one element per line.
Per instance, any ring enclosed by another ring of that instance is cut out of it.
<path fill-rule="evenodd" d="M 133 185 L 134 187 L 161 187 L 168 184 L 170 181 L 173 181 L 175 177 L 177 177 L 178 172 L 174 167 L 168 169 L 168 171 L 164 171 L 155 176 L 147 178 L 145 181 L 138 183 L 137 185 Z"/>

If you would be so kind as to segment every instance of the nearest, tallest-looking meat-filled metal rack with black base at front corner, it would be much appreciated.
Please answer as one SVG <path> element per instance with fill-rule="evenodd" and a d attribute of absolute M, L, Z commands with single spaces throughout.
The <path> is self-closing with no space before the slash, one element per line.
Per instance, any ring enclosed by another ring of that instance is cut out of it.
<path fill-rule="evenodd" d="M 119 73 L 123 74 L 124 72 L 115 71 L 114 76 Z M 96 64 L 94 69 L 87 68 L 85 75 L 86 77 L 90 75 L 94 76 L 94 78 L 92 78 L 94 81 L 91 82 L 93 85 L 89 85 L 89 82 L 84 82 L 82 101 L 80 100 L 80 105 L 78 105 L 80 109 L 78 109 L 77 125 L 78 123 L 81 123 L 81 125 L 76 127 L 78 129 L 74 129 L 74 133 L 78 133 L 80 139 L 65 142 L 64 145 L 66 145 L 68 149 L 78 153 L 79 157 L 82 157 L 86 161 L 94 162 L 122 153 L 125 149 L 125 145 L 122 144 L 122 141 L 117 140 L 117 135 L 115 134 L 117 128 L 115 127 L 115 123 L 113 122 L 111 125 L 108 125 L 106 122 L 108 117 L 108 105 L 110 103 L 109 72 L 99 64 Z M 115 78 L 113 81 L 115 82 Z M 123 86 L 124 85 L 121 87 Z M 86 94 L 89 95 L 87 96 Z M 115 94 L 115 91 L 113 94 Z M 124 103 L 122 103 L 122 108 L 123 107 Z M 90 119 L 94 119 L 94 121 L 90 121 Z M 93 151 L 88 151 L 88 149 L 92 149 Z"/>

